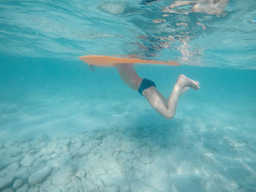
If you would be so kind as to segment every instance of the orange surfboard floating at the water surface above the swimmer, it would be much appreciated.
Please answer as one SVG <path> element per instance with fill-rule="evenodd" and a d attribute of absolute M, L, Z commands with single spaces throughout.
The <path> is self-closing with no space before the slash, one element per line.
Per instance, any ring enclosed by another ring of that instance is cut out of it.
<path fill-rule="evenodd" d="M 140 58 L 118 58 L 106 55 L 86 55 L 80 56 L 80 60 L 89 64 L 89 66 L 116 66 L 117 64 L 159 64 L 167 66 L 178 66 L 176 61 L 153 61 Z"/>

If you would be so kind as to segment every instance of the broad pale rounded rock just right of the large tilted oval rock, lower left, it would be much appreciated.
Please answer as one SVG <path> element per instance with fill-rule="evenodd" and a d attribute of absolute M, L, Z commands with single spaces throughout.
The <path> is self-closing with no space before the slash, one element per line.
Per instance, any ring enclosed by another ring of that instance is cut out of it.
<path fill-rule="evenodd" d="M 59 169 L 56 174 L 53 175 L 53 185 L 67 185 L 72 180 L 72 168 L 71 167 L 63 167 Z"/>

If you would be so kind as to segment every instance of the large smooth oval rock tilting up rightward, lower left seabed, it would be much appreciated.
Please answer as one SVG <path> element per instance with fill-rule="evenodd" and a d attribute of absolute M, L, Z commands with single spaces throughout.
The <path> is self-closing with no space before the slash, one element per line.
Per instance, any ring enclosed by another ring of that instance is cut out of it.
<path fill-rule="evenodd" d="M 52 170 L 53 168 L 51 166 L 45 166 L 42 169 L 38 169 L 36 172 L 30 175 L 29 184 L 35 185 L 37 183 L 42 183 L 42 181 L 48 177 Z"/>

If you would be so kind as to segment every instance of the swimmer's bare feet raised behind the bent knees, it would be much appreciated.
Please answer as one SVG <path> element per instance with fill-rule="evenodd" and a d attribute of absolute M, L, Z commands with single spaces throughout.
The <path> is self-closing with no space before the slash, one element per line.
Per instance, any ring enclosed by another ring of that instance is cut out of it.
<path fill-rule="evenodd" d="M 181 88 L 181 94 L 187 91 L 189 88 L 194 88 L 195 90 L 200 88 L 200 83 L 198 81 L 191 80 L 184 74 L 180 74 L 178 76 L 178 81 L 176 85 L 178 85 L 179 88 Z"/>

